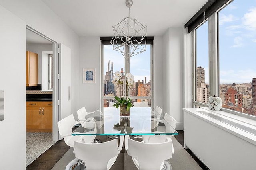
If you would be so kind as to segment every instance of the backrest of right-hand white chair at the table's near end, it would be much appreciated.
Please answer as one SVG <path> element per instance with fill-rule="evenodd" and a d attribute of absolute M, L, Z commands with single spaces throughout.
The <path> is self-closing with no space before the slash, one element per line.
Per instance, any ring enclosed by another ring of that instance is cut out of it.
<path fill-rule="evenodd" d="M 132 140 L 127 135 L 124 144 L 139 170 L 161 170 L 163 162 L 172 158 L 172 141 L 166 140 L 163 143 L 143 143 Z"/>

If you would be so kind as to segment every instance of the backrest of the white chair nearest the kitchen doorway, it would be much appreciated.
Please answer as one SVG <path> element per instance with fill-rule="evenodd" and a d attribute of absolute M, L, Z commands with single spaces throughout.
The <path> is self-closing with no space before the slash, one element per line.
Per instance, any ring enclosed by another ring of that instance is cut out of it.
<path fill-rule="evenodd" d="M 58 121 L 59 133 L 61 137 L 69 136 L 72 133 L 72 128 L 77 124 L 74 116 L 71 114 L 64 119 Z"/>

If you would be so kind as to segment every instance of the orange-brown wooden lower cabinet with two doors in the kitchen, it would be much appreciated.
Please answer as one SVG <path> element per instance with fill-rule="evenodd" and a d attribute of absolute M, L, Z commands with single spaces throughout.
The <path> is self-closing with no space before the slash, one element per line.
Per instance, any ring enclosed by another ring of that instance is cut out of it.
<path fill-rule="evenodd" d="M 26 131 L 52 132 L 52 102 L 26 102 Z"/>

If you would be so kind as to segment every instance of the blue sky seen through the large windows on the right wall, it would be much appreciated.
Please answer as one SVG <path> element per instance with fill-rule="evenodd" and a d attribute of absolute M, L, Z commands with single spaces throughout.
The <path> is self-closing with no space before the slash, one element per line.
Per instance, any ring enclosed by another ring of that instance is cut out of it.
<path fill-rule="evenodd" d="M 197 66 L 208 83 L 208 22 L 197 31 Z M 256 78 L 256 0 L 234 0 L 219 12 L 220 84 Z"/>

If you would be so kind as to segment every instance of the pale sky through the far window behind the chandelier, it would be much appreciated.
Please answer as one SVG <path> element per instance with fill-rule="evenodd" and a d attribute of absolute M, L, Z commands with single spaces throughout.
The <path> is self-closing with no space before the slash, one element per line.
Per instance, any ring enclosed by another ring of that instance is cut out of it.
<path fill-rule="evenodd" d="M 147 82 L 150 80 L 150 45 L 146 46 L 146 51 L 130 57 L 130 73 L 134 75 L 134 80 L 145 80 L 147 77 Z M 124 68 L 124 57 L 120 51 L 113 50 L 112 45 L 104 45 L 104 74 L 108 70 L 108 60 L 113 62 L 113 72 L 121 71 Z M 125 70 L 125 68 L 124 68 Z"/>

